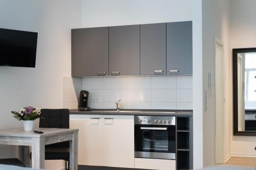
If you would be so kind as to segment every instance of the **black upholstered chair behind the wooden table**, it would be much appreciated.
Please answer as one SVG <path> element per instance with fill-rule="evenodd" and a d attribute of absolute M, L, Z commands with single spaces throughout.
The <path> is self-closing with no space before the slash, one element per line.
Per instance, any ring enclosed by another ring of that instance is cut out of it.
<path fill-rule="evenodd" d="M 39 128 L 69 129 L 69 109 L 41 109 Z M 59 142 L 46 145 L 46 160 L 65 160 L 66 169 L 69 169 L 70 142 Z M 67 166 L 68 163 L 68 166 Z"/>

